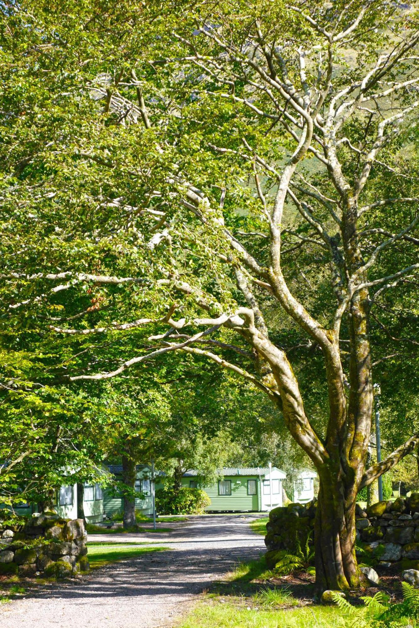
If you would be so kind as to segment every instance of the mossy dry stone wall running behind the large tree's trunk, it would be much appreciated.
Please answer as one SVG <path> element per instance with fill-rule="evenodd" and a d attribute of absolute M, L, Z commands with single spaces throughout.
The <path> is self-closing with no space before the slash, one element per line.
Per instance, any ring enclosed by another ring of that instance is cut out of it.
<path fill-rule="evenodd" d="M 278 550 L 297 553 L 298 545 L 314 541 L 316 499 L 308 504 L 289 504 L 275 508 L 267 523 L 266 560 L 275 565 Z M 360 561 L 403 569 L 419 569 L 419 493 L 406 499 L 373 504 L 364 511 L 356 504 L 356 543 Z"/>

